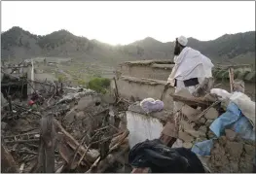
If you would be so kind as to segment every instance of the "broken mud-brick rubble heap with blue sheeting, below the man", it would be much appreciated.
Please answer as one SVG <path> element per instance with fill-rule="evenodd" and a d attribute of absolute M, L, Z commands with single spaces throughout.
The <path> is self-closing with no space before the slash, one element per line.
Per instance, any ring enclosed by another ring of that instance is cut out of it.
<path fill-rule="evenodd" d="M 208 172 L 250 173 L 253 171 L 256 144 L 251 138 L 252 134 L 249 128 L 251 125 L 239 125 L 239 123 L 234 125 L 234 123 L 230 123 L 229 126 L 225 125 L 225 131 L 221 132 L 219 137 L 212 132 L 212 122 L 230 109 L 227 108 L 227 100 L 220 101 L 217 97 L 214 98 L 213 95 L 211 97 L 173 95 L 173 97 L 175 101 L 183 105 L 180 109 L 177 123 L 179 125 L 177 141 L 172 147 L 182 146 L 184 148 L 192 148 L 192 151 L 196 147 L 195 152 L 196 154 L 199 153 L 198 156 L 200 156 L 201 162 Z M 234 108 L 232 109 L 234 110 Z M 234 113 L 233 115 L 237 114 Z M 229 117 L 233 116 L 226 116 L 228 119 Z M 246 120 L 244 116 L 241 116 L 241 118 L 243 122 Z M 236 121 L 236 119 L 232 118 L 230 120 Z M 237 119 L 238 121 L 239 119 Z M 225 124 L 227 123 L 225 122 Z M 216 128 L 216 125 L 217 123 L 214 124 L 214 128 Z M 244 133 L 246 131 L 247 133 Z M 203 145 L 202 143 L 205 144 Z M 198 145 L 201 146 L 197 147 Z"/>

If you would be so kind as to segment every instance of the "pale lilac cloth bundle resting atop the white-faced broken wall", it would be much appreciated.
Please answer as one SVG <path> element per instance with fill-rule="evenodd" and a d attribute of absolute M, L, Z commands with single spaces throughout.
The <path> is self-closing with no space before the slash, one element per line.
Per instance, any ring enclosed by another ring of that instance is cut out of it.
<path fill-rule="evenodd" d="M 155 100 L 153 98 L 145 98 L 140 102 L 140 107 L 146 113 L 158 112 L 164 109 L 164 102 L 161 100 Z"/>

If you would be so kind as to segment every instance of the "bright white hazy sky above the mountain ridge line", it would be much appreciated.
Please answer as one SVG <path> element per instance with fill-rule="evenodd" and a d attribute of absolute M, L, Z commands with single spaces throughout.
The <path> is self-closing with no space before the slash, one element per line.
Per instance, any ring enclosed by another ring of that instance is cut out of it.
<path fill-rule="evenodd" d="M 148 36 L 162 42 L 179 35 L 206 41 L 255 31 L 254 1 L 2 1 L 1 13 L 2 31 L 20 26 L 45 35 L 66 29 L 113 45 Z"/>

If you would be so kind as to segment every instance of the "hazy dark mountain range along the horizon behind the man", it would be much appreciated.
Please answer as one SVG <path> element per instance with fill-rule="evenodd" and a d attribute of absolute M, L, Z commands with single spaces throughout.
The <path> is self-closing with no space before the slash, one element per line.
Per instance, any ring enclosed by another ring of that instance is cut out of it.
<path fill-rule="evenodd" d="M 225 34 L 206 42 L 189 38 L 188 45 L 215 63 L 255 64 L 255 31 Z M 122 61 L 136 59 L 172 59 L 173 46 L 172 42 L 162 43 L 148 37 L 126 46 L 113 47 L 75 36 L 66 30 L 37 36 L 20 27 L 13 27 L 1 34 L 1 58 L 63 56 L 116 65 Z"/>

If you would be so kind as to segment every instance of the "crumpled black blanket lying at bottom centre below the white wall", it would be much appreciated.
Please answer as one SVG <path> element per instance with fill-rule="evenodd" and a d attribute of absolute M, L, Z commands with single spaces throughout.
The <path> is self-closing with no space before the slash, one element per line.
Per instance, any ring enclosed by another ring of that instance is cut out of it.
<path fill-rule="evenodd" d="M 128 162 L 133 167 L 149 167 L 152 173 L 204 173 L 201 160 L 190 149 L 169 148 L 159 139 L 136 144 Z"/>

